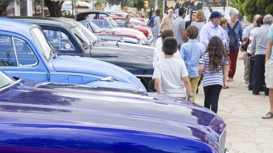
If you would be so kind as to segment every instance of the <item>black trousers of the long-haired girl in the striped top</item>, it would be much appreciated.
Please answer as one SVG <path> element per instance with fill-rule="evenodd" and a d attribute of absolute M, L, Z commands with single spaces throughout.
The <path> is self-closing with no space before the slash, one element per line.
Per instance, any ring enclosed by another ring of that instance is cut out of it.
<path fill-rule="evenodd" d="M 222 86 L 219 84 L 214 84 L 210 86 L 203 87 L 204 88 L 204 93 L 205 93 L 205 102 L 204 102 L 204 107 L 210 109 L 214 113 L 217 113 L 218 110 L 218 100 L 219 100 L 219 95 L 222 90 Z"/>

